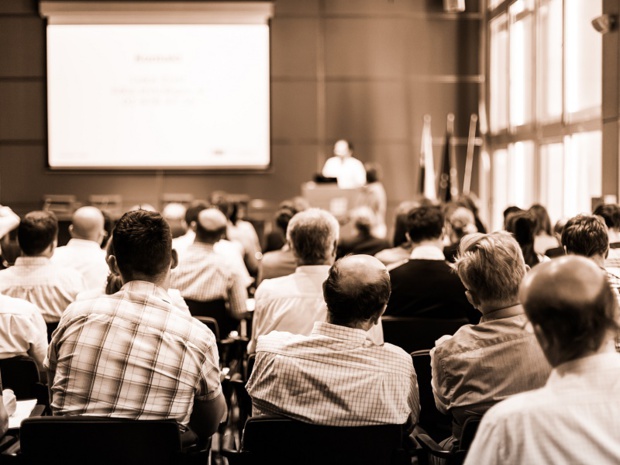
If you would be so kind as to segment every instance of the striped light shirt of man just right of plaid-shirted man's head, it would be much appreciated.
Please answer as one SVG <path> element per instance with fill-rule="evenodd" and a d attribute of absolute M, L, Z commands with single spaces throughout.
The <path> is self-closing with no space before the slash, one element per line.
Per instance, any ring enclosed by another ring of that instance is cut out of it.
<path fill-rule="evenodd" d="M 241 276 L 232 271 L 226 258 L 213 251 L 213 245 L 195 242 L 172 270 L 170 287 L 186 299 L 205 302 L 224 299 L 230 313 L 241 318 L 246 311 L 248 293 Z"/>

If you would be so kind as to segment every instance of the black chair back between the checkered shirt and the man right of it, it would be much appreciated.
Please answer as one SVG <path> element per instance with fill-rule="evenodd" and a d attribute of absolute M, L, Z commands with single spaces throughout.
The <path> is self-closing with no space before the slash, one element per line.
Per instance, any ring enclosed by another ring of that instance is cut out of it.
<path fill-rule="evenodd" d="M 452 417 L 444 415 L 435 407 L 435 397 L 431 387 L 431 356 L 429 350 L 411 353 L 413 368 L 418 376 L 420 392 L 420 418 L 418 425 L 435 441 L 447 438 L 452 433 Z"/>

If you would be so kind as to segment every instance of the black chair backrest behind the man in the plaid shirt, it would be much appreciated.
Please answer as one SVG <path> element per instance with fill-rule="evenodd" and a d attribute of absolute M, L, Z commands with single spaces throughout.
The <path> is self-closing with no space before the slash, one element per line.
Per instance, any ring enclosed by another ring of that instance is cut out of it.
<path fill-rule="evenodd" d="M 32 417 L 20 428 L 20 463 L 169 465 L 181 437 L 174 420 Z"/>

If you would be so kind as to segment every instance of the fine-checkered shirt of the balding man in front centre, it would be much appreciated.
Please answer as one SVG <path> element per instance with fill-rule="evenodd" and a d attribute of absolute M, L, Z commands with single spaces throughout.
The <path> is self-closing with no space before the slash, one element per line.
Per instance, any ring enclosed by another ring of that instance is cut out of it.
<path fill-rule="evenodd" d="M 361 329 L 316 322 L 310 336 L 274 331 L 258 339 L 247 384 L 254 414 L 331 426 L 417 421 L 411 357 L 375 345 Z"/>

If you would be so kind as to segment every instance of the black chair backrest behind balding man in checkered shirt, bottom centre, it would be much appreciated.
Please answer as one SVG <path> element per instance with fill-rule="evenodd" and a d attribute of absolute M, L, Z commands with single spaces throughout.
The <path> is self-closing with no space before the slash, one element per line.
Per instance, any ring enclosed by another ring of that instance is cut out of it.
<path fill-rule="evenodd" d="M 231 465 L 400 465 L 411 458 L 402 448 L 401 425 L 318 426 L 282 417 L 250 418 L 240 451 L 224 450 Z"/>

